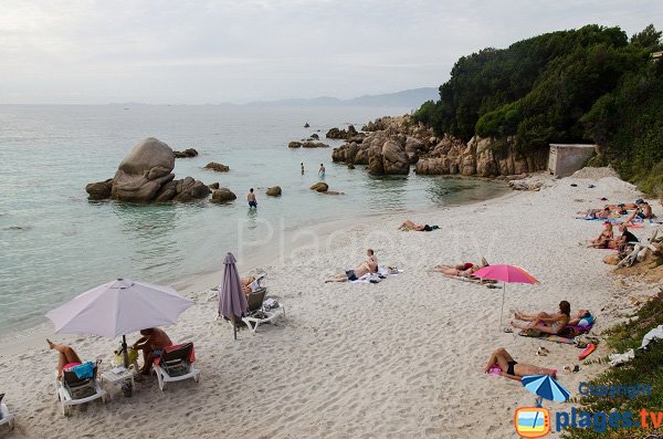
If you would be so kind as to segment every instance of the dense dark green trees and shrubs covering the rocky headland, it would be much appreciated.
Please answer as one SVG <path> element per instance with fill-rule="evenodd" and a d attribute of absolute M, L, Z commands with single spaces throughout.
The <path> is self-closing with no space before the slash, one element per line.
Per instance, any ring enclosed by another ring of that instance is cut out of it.
<path fill-rule="evenodd" d="M 592 24 L 484 49 L 461 58 L 440 100 L 414 118 L 464 142 L 509 139 L 522 154 L 597 143 L 604 153 L 597 165 L 663 194 L 663 60 L 651 58 L 661 48 L 651 24 L 630 40 Z"/>

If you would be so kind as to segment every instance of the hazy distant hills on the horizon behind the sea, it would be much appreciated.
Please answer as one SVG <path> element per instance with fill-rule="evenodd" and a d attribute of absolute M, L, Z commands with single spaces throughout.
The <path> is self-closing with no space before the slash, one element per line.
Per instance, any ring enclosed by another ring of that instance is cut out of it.
<path fill-rule="evenodd" d="M 249 106 L 396 106 L 418 108 L 427 101 L 436 101 L 440 94 L 436 87 L 404 90 L 402 92 L 364 95 L 351 100 L 320 96 L 306 98 L 288 98 L 278 101 L 250 102 Z"/>

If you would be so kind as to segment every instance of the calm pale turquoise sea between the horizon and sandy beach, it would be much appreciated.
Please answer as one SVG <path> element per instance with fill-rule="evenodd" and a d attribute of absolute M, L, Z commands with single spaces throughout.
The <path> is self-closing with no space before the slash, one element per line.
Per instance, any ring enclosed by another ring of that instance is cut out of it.
<path fill-rule="evenodd" d="M 127 108 L 127 109 L 125 109 Z M 410 176 L 372 178 L 332 163 L 332 149 L 290 149 L 290 140 L 333 126 L 359 128 L 408 108 L 0 105 L 0 328 L 41 321 L 43 313 L 115 278 L 170 283 L 219 268 L 228 251 L 276 229 L 366 215 L 424 210 L 502 194 L 502 185 Z M 304 128 L 305 122 L 311 128 Z M 110 178 L 129 149 L 154 136 L 200 155 L 176 160 L 176 178 L 219 181 L 238 195 L 209 202 L 134 206 L 87 200 L 85 185 Z M 230 173 L 204 170 L 209 161 Z M 299 171 L 304 163 L 306 173 Z M 318 180 L 344 196 L 308 190 Z M 278 185 L 283 197 L 264 190 Z M 245 195 L 256 189 L 257 211 Z M 244 261 L 245 262 L 245 261 Z"/>

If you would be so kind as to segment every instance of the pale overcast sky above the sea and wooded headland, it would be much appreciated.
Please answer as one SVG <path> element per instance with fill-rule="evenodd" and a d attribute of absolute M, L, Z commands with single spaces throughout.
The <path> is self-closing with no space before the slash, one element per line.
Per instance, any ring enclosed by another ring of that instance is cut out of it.
<path fill-rule="evenodd" d="M 486 46 L 662 19 L 661 0 L 2 0 L 0 103 L 350 98 L 436 87 Z"/>

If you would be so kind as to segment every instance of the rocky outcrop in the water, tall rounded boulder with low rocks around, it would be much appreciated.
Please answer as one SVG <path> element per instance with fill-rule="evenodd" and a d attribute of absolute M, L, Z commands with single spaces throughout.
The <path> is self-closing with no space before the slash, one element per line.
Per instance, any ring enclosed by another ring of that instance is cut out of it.
<path fill-rule="evenodd" d="M 115 177 L 85 187 L 90 199 L 113 198 L 120 201 L 190 201 L 207 198 L 210 189 L 187 177 L 175 180 L 175 153 L 168 145 L 148 137 L 122 160 Z"/>

